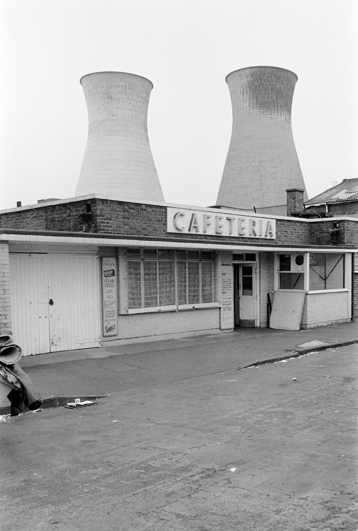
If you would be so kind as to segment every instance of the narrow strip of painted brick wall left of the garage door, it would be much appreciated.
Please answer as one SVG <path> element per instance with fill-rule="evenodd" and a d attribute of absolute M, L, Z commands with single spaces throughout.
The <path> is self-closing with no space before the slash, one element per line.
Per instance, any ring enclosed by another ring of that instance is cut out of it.
<path fill-rule="evenodd" d="M 10 259 L 8 243 L 0 242 L 0 335 L 12 334 Z"/>

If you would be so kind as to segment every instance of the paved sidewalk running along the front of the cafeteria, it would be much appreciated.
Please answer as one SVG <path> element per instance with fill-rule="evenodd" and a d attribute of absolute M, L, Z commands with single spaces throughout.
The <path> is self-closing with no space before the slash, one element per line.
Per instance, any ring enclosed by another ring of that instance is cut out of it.
<path fill-rule="evenodd" d="M 53 407 L 70 398 L 177 382 L 355 342 L 354 322 L 299 331 L 238 328 L 217 335 L 27 356 L 20 365 L 44 398 L 43 407 Z M 10 403 L 3 402 L 0 414 L 9 412 Z"/>

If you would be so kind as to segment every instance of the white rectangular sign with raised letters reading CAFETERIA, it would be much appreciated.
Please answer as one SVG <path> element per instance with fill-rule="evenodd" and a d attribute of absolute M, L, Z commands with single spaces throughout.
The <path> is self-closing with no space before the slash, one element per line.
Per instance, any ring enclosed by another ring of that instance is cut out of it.
<path fill-rule="evenodd" d="M 216 213 L 168 207 L 167 231 L 177 234 L 275 239 L 276 220 L 235 215 L 222 210 Z"/>

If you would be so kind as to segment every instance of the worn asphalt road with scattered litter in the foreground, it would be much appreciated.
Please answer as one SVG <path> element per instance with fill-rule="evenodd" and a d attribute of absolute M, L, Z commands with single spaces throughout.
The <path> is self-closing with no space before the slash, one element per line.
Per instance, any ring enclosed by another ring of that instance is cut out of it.
<path fill-rule="evenodd" d="M 2 423 L 2 531 L 356 531 L 357 353 Z"/>

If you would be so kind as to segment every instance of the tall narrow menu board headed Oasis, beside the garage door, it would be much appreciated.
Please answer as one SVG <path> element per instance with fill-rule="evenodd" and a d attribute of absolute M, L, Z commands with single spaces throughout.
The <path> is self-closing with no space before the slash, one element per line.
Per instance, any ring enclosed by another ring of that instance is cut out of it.
<path fill-rule="evenodd" d="M 103 336 L 117 336 L 117 260 L 102 257 Z"/>

